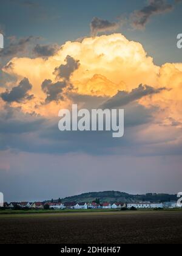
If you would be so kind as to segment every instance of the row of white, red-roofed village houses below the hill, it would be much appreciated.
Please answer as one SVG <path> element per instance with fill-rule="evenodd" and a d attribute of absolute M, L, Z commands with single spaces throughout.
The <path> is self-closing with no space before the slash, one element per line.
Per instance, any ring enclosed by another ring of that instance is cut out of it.
<path fill-rule="evenodd" d="M 136 202 L 133 204 L 123 204 L 116 202 L 110 204 L 105 202 L 103 204 L 96 204 L 96 202 L 11 202 L 5 203 L 4 206 L 8 208 L 15 208 L 16 206 L 21 208 L 34 208 L 43 209 L 45 205 L 49 205 L 48 208 L 54 210 L 75 209 L 75 210 L 87 210 L 87 209 L 121 209 L 121 208 L 177 208 L 177 202 L 164 202 L 164 203 L 151 203 L 151 202 Z"/>

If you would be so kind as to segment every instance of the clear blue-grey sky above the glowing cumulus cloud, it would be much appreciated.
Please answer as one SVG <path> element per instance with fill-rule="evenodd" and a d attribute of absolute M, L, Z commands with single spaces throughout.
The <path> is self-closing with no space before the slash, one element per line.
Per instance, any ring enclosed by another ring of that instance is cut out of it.
<path fill-rule="evenodd" d="M 4 1 L 0 10 L 0 21 L 6 37 L 44 38 L 45 43 L 62 44 L 90 34 L 90 21 L 94 16 L 104 20 L 116 21 L 120 16 L 140 10 L 146 1 L 64 1 L 39 0 Z M 174 1 L 169 1 L 174 2 Z M 180 62 L 181 52 L 176 48 L 177 35 L 181 31 L 182 4 L 173 12 L 153 16 L 144 30 L 132 30 L 121 26 L 118 32 L 129 40 L 140 41 L 155 63 Z"/>

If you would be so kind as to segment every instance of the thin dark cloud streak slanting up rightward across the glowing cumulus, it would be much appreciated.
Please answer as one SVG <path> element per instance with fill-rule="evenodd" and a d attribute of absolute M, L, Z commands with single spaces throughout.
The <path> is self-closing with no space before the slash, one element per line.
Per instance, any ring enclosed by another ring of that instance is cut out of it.
<path fill-rule="evenodd" d="M 132 101 L 141 99 L 144 96 L 160 93 L 160 91 L 162 90 L 165 90 L 165 88 L 155 89 L 148 85 L 139 85 L 138 88 L 133 89 L 130 93 L 128 93 L 127 91 L 118 91 L 118 93 L 115 96 L 113 96 L 113 98 L 105 102 L 102 105 L 102 107 L 103 108 L 121 107 L 123 105 L 129 104 Z"/>

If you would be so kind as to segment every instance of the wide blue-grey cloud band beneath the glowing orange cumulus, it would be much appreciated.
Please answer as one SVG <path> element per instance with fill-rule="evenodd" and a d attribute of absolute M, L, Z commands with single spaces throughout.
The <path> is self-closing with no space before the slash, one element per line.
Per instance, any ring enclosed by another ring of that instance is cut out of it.
<path fill-rule="evenodd" d="M 45 120 L 35 114 L 21 112 L 21 108 L 10 108 L 8 105 L 0 115 L 0 150 L 32 152 L 39 154 L 62 155 L 67 153 L 87 153 L 90 155 L 113 155 L 120 152 L 126 155 L 165 155 L 163 142 L 169 141 L 166 136 L 153 141 L 143 138 L 144 131 L 152 124 L 156 108 L 145 108 L 137 102 L 125 107 L 125 134 L 122 139 L 113 139 L 112 132 L 60 132 L 58 118 Z M 181 130 L 170 137 L 174 140 Z M 15 136 L 16 135 L 16 136 Z M 173 137 L 174 136 L 174 137 Z M 156 152 L 155 142 L 161 150 Z M 160 144 L 160 145 L 159 145 Z M 146 151 L 146 147 L 148 151 Z M 172 147 L 170 147 L 172 148 Z M 140 149 L 140 151 L 138 150 Z M 163 149 L 163 150 L 162 150 Z M 171 154 L 179 154 L 178 151 Z"/>

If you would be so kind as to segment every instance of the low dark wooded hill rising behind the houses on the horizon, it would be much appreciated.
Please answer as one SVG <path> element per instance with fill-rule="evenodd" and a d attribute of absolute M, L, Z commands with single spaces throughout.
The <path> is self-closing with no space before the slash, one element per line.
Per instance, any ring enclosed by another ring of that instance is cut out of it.
<path fill-rule="evenodd" d="M 62 199 L 62 202 L 92 202 L 99 199 L 100 202 L 169 202 L 177 201 L 176 194 L 127 194 L 120 191 L 103 191 L 79 194 Z"/>

